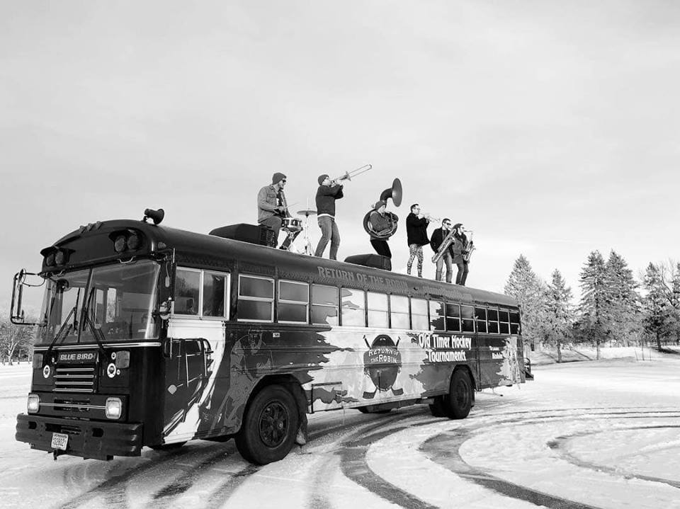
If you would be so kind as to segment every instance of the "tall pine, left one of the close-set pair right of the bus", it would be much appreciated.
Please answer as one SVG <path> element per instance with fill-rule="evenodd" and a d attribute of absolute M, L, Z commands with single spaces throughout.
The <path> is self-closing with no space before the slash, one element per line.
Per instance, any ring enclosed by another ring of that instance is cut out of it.
<path fill-rule="evenodd" d="M 581 282 L 579 328 L 587 340 L 596 345 L 599 359 L 600 343 L 611 334 L 609 328 L 611 296 L 606 286 L 604 258 L 599 251 L 592 251 L 589 254 L 579 280 Z"/>

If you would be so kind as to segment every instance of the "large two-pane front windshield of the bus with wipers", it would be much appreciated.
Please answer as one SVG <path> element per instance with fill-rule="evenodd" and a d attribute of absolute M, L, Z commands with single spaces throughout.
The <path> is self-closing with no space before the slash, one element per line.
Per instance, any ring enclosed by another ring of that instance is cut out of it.
<path fill-rule="evenodd" d="M 39 340 L 51 343 L 56 334 L 57 343 L 157 338 L 152 313 L 159 269 L 158 263 L 142 260 L 50 278 Z"/>

